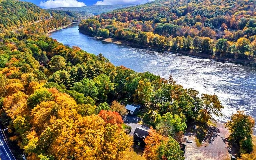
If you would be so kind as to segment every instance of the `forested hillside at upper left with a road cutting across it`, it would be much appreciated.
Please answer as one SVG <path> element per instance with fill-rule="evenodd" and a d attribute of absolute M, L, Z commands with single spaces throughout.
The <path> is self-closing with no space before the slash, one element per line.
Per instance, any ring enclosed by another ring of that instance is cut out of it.
<path fill-rule="evenodd" d="M 78 21 L 73 13 L 43 10 L 33 3 L 17 0 L 0 0 L 0 13 L 0 32 L 24 28 L 29 33 L 43 33 Z"/>

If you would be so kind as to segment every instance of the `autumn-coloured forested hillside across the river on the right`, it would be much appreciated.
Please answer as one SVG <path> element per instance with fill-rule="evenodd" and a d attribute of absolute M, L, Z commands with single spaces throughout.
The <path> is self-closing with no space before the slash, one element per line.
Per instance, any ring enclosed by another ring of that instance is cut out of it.
<path fill-rule="evenodd" d="M 95 16 L 80 31 L 170 50 L 255 60 L 254 0 L 156 0 Z"/>

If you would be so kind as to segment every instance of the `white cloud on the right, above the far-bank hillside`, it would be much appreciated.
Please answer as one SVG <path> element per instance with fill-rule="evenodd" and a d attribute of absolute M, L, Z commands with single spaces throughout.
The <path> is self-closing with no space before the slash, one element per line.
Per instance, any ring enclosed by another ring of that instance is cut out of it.
<path fill-rule="evenodd" d="M 94 5 L 111 5 L 111 4 L 144 4 L 154 0 L 102 0 Z"/>

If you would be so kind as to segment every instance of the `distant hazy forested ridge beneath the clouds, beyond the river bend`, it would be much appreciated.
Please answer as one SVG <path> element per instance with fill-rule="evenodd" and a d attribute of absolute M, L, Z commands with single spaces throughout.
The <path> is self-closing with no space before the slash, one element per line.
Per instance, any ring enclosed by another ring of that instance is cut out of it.
<path fill-rule="evenodd" d="M 50 10 L 68 11 L 77 14 L 80 18 L 88 18 L 128 6 L 130 5 L 91 5 L 84 7 L 59 7 Z"/>

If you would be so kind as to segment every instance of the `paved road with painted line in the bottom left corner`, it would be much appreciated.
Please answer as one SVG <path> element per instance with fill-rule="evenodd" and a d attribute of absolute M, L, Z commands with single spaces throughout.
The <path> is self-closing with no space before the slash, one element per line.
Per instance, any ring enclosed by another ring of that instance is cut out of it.
<path fill-rule="evenodd" d="M 1 160 L 16 160 L 11 153 L 6 141 L 4 140 L 3 131 L 0 128 L 0 158 Z"/>

